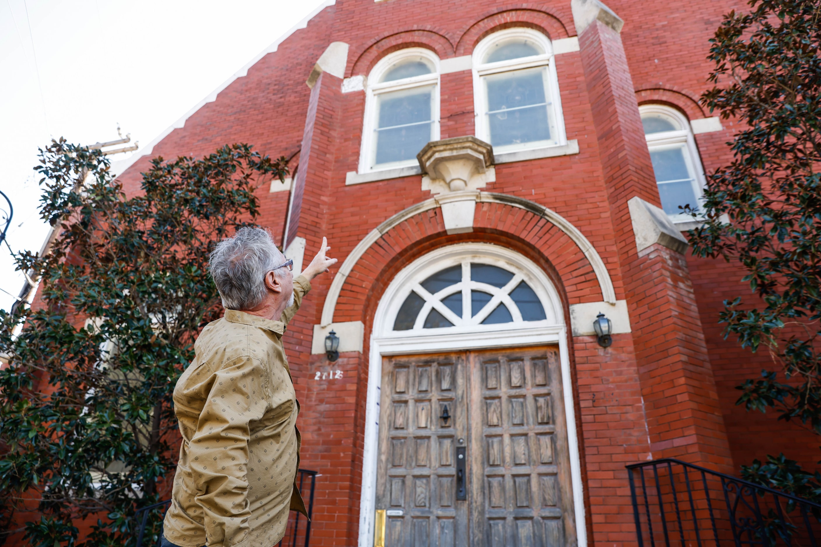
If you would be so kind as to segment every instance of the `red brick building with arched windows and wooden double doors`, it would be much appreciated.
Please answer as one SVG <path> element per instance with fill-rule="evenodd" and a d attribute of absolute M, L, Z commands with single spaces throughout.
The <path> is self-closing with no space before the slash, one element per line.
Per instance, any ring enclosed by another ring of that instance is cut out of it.
<path fill-rule="evenodd" d="M 296 153 L 261 223 L 297 267 L 323 235 L 340 259 L 286 335 L 312 545 L 374 545 L 378 510 L 387 545 L 634 545 L 626 464 L 814 461 L 734 405 L 767 364 L 717 324 L 747 289 L 681 235 L 730 157 L 698 98 L 734 8 L 331 0 L 120 176 Z"/>

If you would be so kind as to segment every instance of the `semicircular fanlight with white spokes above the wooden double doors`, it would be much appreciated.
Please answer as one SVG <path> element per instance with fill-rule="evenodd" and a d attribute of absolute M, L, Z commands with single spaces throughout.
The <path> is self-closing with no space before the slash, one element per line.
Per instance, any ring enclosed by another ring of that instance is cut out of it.
<path fill-rule="evenodd" d="M 545 294 L 537 294 L 534 278 L 492 256 L 452 257 L 408 281 L 393 320 L 397 332 L 537 326 L 548 318 L 555 322 L 553 306 Z"/>

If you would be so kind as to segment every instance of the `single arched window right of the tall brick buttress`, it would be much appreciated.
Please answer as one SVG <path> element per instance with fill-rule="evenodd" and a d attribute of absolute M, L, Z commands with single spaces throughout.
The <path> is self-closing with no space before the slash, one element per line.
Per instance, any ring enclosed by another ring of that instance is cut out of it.
<path fill-rule="evenodd" d="M 692 221 L 679 207 L 698 210 L 704 169 L 690 122 L 681 112 L 659 104 L 643 105 L 639 112 L 664 212 L 673 222 Z"/>

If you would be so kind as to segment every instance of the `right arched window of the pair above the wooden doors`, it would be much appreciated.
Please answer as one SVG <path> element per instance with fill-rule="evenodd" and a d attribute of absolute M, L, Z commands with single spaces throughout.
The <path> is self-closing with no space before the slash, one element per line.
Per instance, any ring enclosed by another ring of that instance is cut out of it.
<path fill-rule="evenodd" d="M 494 153 L 565 144 L 553 48 L 544 34 L 518 28 L 475 48 L 476 136 Z"/>

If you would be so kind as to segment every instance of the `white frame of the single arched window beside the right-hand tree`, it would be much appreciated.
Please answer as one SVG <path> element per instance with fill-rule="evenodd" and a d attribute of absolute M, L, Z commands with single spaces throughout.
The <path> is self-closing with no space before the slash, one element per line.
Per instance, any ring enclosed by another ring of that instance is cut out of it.
<path fill-rule="evenodd" d="M 704 166 L 701 165 L 701 157 L 699 157 L 699 149 L 695 146 L 695 138 L 693 137 L 693 130 L 690 127 L 690 121 L 687 117 L 672 107 L 664 106 L 663 104 L 644 104 L 639 107 L 641 116 L 645 114 L 662 114 L 663 116 L 671 117 L 681 130 L 677 131 L 660 131 L 658 133 L 645 134 L 644 139 L 647 141 L 647 149 L 649 152 L 654 150 L 663 150 L 664 148 L 672 148 L 685 144 L 684 161 L 687 169 L 693 174 L 695 179 L 695 198 L 698 201 L 699 207 L 704 205 L 704 186 L 707 185 L 707 180 L 704 177 Z M 694 219 L 686 213 L 676 215 L 668 214 L 670 220 L 674 223 L 692 222 Z M 696 217 L 696 220 L 702 217 Z"/>

